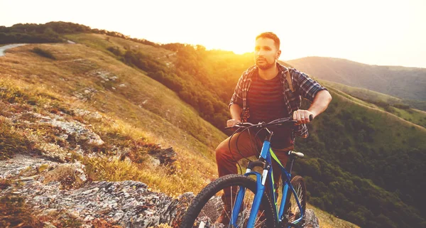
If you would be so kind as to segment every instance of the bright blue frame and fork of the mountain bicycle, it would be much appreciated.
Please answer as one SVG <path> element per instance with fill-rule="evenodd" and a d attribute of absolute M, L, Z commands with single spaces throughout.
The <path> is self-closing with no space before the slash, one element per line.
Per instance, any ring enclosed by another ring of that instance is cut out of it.
<path fill-rule="evenodd" d="M 275 188 L 274 188 L 275 185 L 273 180 L 273 169 L 271 165 L 272 158 L 280 165 L 281 180 L 283 180 L 283 192 L 282 192 L 283 197 L 281 199 L 279 210 L 277 210 L 278 199 L 275 198 L 276 197 Z M 262 174 L 255 171 L 251 171 L 256 166 L 261 166 L 263 168 Z M 278 158 L 275 156 L 275 153 L 273 153 L 271 149 L 271 143 L 268 140 L 265 140 L 263 142 L 261 156 L 259 156 L 258 161 L 250 162 L 249 165 L 247 166 L 247 170 L 244 175 L 246 176 L 255 175 L 256 183 L 257 183 L 256 195 L 253 200 L 253 205 L 251 206 L 250 217 L 247 224 L 248 228 L 254 227 L 254 223 L 256 222 L 255 220 L 256 220 L 257 212 L 261 205 L 263 193 L 265 192 L 265 183 L 268 178 L 269 178 L 268 185 L 271 186 L 269 194 L 271 195 L 271 200 L 273 200 L 273 205 L 274 205 L 273 212 L 275 213 L 277 218 L 275 220 L 275 223 L 278 224 L 279 222 L 282 222 L 283 220 L 282 218 L 284 214 L 285 201 L 287 198 L 286 196 L 288 194 L 288 190 L 290 189 L 292 194 L 295 195 L 295 200 L 300 210 L 300 217 L 296 219 L 294 222 L 288 222 L 288 227 L 297 226 L 297 224 L 302 220 L 304 216 L 302 212 L 302 206 L 300 205 L 300 200 L 297 197 L 297 194 L 295 192 L 295 189 L 293 188 L 293 185 L 291 185 L 290 183 L 290 178 L 291 178 L 290 173 L 288 173 L 288 171 L 284 168 L 284 166 L 280 163 Z M 246 192 L 246 189 L 239 188 L 239 191 L 236 195 L 235 207 L 233 212 L 231 213 L 231 221 L 230 221 L 230 224 L 232 224 L 234 227 L 237 227 L 236 219 L 239 215 L 239 210 L 241 208 L 241 203 L 244 199 L 245 192 Z"/>

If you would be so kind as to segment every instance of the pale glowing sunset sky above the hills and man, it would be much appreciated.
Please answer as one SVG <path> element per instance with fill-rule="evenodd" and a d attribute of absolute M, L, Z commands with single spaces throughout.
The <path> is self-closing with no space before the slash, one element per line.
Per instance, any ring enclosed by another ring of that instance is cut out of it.
<path fill-rule="evenodd" d="M 426 0 L 0 0 L 0 26 L 67 21 L 155 43 L 252 52 L 276 33 L 281 60 L 344 58 L 426 67 Z"/>

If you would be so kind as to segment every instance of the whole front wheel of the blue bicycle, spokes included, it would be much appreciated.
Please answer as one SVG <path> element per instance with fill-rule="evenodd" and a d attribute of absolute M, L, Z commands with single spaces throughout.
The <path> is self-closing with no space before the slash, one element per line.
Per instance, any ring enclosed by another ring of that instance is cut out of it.
<path fill-rule="evenodd" d="M 236 226 L 246 227 L 256 194 L 256 181 L 244 175 L 231 174 L 209 183 L 194 198 L 182 219 L 180 228 L 232 227 L 229 220 L 234 210 L 236 192 L 239 188 L 246 188 L 246 193 L 239 209 L 239 215 L 237 215 Z M 267 194 L 263 195 L 254 227 L 275 227 L 275 213 Z"/>

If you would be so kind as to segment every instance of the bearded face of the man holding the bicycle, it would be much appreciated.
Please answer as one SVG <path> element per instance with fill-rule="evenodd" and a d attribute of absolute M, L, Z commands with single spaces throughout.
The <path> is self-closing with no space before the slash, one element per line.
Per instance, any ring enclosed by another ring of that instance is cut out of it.
<path fill-rule="evenodd" d="M 275 66 L 275 60 L 278 60 L 280 53 L 273 39 L 258 38 L 254 48 L 254 62 L 261 70 L 267 70 Z"/>

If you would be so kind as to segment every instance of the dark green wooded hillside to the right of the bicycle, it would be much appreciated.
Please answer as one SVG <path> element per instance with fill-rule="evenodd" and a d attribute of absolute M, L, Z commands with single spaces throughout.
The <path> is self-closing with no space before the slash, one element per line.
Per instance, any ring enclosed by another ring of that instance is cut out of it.
<path fill-rule="evenodd" d="M 337 92 L 332 96 L 310 138 L 297 144 L 307 154 L 297 171 L 308 180 L 312 204 L 361 227 L 424 222 L 425 186 L 416 180 L 426 174 L 426 130 Z M 379 215 L 391 215 L 383 217 L 386 225 Z"/>

